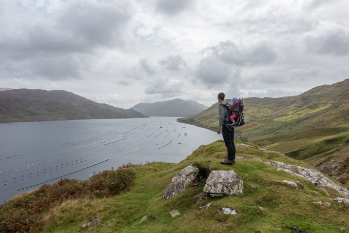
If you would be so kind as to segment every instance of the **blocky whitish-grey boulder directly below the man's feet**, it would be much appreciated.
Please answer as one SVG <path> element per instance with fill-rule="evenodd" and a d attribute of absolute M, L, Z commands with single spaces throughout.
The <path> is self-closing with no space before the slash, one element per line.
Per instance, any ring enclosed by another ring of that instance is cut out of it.
<path fill-rule="evenodd" d="M 233 170 L 210 172 L 204 192 L 211 197 L 222 197 L 224 195 L 242 195 L 244 182 L 241 177 Z"/>

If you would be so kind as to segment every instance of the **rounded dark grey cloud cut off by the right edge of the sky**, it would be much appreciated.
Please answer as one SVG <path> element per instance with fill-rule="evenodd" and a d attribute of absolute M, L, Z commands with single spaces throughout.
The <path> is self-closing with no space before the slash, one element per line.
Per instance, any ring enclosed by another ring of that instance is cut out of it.
<path fill-rule="evenodd" d="M 314 31 L 305 33 L 304 43 L 309 52 L 343 56 L 349 53 L 349 33 L 340 25 L 321 23 Z"/>

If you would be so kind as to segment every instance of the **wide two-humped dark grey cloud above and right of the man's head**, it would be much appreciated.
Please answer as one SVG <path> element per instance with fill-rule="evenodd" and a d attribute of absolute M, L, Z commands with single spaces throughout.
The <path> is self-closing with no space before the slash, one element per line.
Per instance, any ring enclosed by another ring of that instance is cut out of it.
<path fill-rule="evenodd" d="M 231 41 L 224 41 L 217 46 L 207 48 L 206 51 L 218 56 L 227 64 L 241 66 L 268 64 L 275 61 L 277 57 L 272 46 L 263 42 L 259 43 L 257 46 L 243 48 L 238 47 Z"/>

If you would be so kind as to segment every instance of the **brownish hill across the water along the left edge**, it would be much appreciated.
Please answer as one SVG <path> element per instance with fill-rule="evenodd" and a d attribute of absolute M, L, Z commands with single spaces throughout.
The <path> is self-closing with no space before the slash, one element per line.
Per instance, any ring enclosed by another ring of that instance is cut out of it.
<path fill-rule="evenodd" d="M 133 109 L 96 103 L 64 90 L 13 89 L 0 92 L 0 123 L 144 117 Z"/>

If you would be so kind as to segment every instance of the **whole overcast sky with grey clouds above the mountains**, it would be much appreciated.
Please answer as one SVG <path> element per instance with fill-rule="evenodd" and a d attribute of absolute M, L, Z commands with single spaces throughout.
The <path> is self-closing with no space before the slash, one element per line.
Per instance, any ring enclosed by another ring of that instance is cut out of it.
<path fill-rule="evenodd" d="M 297 95 L 349 77 L 349 2 L 2 0 L 0 87 L 130 108 Z"/>

